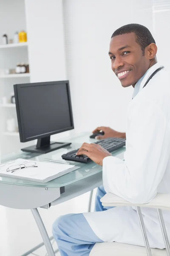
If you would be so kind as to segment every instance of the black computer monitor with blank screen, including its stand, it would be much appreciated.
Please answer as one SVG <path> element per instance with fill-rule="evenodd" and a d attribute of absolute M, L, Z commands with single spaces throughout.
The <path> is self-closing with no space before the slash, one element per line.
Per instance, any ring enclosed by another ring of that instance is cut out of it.
<path fill-rule="evenodd" d="M 37 139 L 22 151 L 48 153 L 71 143 L 50 136 L 74 129 L 69 81 L 14 84 L 20 142 Z"/>

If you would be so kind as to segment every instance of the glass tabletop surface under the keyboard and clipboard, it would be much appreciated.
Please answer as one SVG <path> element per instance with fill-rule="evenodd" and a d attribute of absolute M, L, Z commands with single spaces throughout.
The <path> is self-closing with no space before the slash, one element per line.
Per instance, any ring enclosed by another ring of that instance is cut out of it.
<path fill-rule="evenodd" d="M 35 154 L 35 153 L 26 153 L 23 151 L 19 151 L 16 153 L 12 153 L 9 155 L 6 155 L 1 158 L 0 163 L 7 162 L 9 160 L 15 160 L 17 158 L 23 158 L 23 159 L 29 159 L 33 161 L 45 161 L 44 158 L 51 159 L 51 160 L 62 160 L 62 154 L 66 154 L 67 152 L 79 148 L 82 143 L 94 143 L 96 140 L 90 139 L 89 136 L 91 133 L 84 133 L 77 137 L 68 137 L 65 140 L 62 141 L 68 141 L 72 144 L 65 148 L 60 148 L 57 151 L 52 151 L 47 154 Z M 123 159 L 123 154 L 125 152 L 125 147 L 120 148 L 113 152 L 113 156 L 119 157 Z M 63 161 L 63 160 L 62 160 Z M 96 165 L 96 163 L 77 163 L 73 161 L 66 161 L 66 163 L 74 164 L 75 166 L 79 166 L 80 168 L 76 171 L 70 172 L 62 177 L 59 177 L 55 180 L 51 180 L 47 183 L 38 183 L 38 182 L 32 182 L 28 180 L 20 180 L 17 178 L 11 178 L 11 177 L 0 177 L 0 183 L 6 183 L 6 184 L 13 184 L 18 186 L 31 186 L 31 187 L 62 187 L 67 186 L 71 183 L 77 182 L 79 180 L 82 180 L 86 177 L 89 177 L 91 175 L 94 175 L 96 173 L 102 172 L 102 166 Z M 57 163 L 59 164 L 59 163 Z"/>

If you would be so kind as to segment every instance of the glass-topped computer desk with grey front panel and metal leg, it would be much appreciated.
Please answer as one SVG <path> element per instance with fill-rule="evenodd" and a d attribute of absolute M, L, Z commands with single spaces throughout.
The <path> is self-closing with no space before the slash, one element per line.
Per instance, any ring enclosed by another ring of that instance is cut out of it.
<path fill-rule="evenodd" d="M 71 142 L 72 144 L 70 146 L 60 148 L 47 154 L 26 153 L 23 151 L 14 152 L 1 157 L 0 163 L 17 158 L 29 159 L 35 162 L 45 161 L 44 158 L 62 160 L 62 154 L 79 148 L 82 143 L 94 143 L 96 140 L 90 139 L 90 135 L 91 133 L 84 133 L 76 137 L 65 138 L 65 140 L 61 141 Z M 113 156 L 123 159 L 124 152 L 125 147 L 120 148 L 113 152 Z M 42 207 L 48 209 L 51 206 L 75 198 L 78 195 L 93 191 L 93 189 L 102 185 L 102 166 L 98 166 L 94 162 L 88 164 L 73 161 L 66 162 L 72 163 L 80 168 L 47 183 L 20 180 L 11 177 L 0 177 L 0 205 L 14 209 L 31 209 L 48 256 L 55 256 L 55 254 L 37 208 Z M 63 187 L 65 192 L 63 192 Z M 29 251 L 29 253 L 30 252 L 33 252 L 33 250 Z M 29 253 L 25 253 L 23 256 Z"/>

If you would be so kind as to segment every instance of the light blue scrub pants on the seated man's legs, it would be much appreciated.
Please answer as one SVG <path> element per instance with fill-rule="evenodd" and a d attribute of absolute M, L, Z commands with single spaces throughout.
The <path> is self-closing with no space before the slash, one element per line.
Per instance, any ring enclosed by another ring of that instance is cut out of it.
<path fill-rule="evenodd" d="M 105 194 L 104 187 L 100 186 L 96 193 L 96 211 L 111 208 L 103 207 L 100 202 Z M 94 244 L 103 242 L 96 236 L 82 213 L 59 217 L 53 224 L 53 236 L 61 256 L 89 256 Z"/>

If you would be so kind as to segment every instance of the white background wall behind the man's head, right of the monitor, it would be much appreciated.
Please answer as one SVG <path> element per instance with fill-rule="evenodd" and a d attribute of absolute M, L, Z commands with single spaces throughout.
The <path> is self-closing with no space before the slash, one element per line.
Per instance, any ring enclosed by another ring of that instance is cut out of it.
<path fill-rule="evenodd" d="M 152 0 L 63 0 L 63 6 L 75 131 L 99 125 L 125 131 L 133 88 L 123 88 L 111 70 L 110 38 L 127 23 L 152 32 Z"/>

